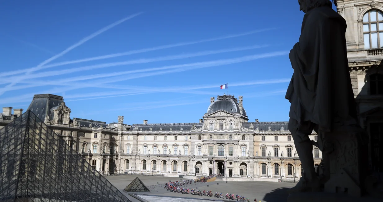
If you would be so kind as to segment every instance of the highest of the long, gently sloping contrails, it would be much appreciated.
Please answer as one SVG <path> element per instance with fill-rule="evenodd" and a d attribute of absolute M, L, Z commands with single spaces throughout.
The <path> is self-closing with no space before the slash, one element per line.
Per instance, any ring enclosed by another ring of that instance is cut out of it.
<path fill-rule="evenodd" d="M 101 60 L 101 59 L 107 59 L 107 58 L 115 58 L 115 57 L 120 57 L 120 56 L 125 56 L 125 55 L 132 55 L 132 54 L 137 54 L 137 53 L 144 53 L 144 52 L 149 52 L 149 51 L 154 51 L 154 50 L 161 50 L 161 49 L 166 49 L 166 48 L 173 48 L 173 47 L 179 47 L 179 46 L 185 46 L 185 45 L 192 45 L 192 44 L 199 44 L 203 42 L 210 42 L 210 41 L 215 41 L 215 40 L 221 40 L 221 39 L 229 39 L 229 38 L 234 38 L 234 37 L 241 37 L 241 36 L 246 36 L 250 34 L 255 34 L 258 32 L 264 32 L 264 31 L 270 31 L 276 28 L 265 28 L 265 29 L 259 29 L 255 31 L 250 31 L 250 32 L 244 32 L 241 34 L 231 34 L 231 35 L 226 35 L 226 36 L 221 36 L 221 37 L 216 37 L 216 38 L 210 38 L 210 39 L 203 39 L 203 40 L 197 40 L 197 41 L 192 41 L 192 42 L 182 42 L 178 44 L 169 44 L 169 45 L 162 45 L 162 46 L 157 46 L 157 47 L 152 47 L 152 48 L 142 48 L 139 50 L 131 50 L 128 52 L 122 52 L 122 53 L 114 53 L 114 54 L 109 54 L 109 55 L 101 55 L 97 57 L 90 57 L 90 58 L 84 58 L 84 59 L 79 59 L 79 60 L 72 60 L 72 61 L 64 61 L 60 63 L 53 63 L 51 65 L 46 65 L 42 66 L 39 69 L 45 69 L 45 68 L 51 68 L 51 67 L 56 67 L 56 66 L 62 66 L 62 65 L 69 65 L 69 64 L 75 64 L 75 63 L 81 63 L 81 62 L 86 62 L 86 61 L 94 61 L 94 60 Z M 11 76 L 15 74 L 21 74 L 24 72 L 29 71 L 29 69 L 36 69 L 34 68 L 28 68 L 28 69 L 20 69 L 16 71 L 9 71 L 0 74 L 0 77 L 4 76 Z"/>

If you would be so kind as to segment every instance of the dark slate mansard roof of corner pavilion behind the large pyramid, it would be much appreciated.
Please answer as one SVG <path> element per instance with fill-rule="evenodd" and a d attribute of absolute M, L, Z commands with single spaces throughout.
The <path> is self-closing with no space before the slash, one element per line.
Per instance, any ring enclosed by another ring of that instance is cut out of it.
<path fill-rule="evenodd" d="M 52 94 L 39 94 L 34 95 L 31 104 L 27 110 L 31 110 L 40 120 L 44 120 L 45 116 L 48 115 L 53 120 L 52 108 L 58 107 L 64 102 L 64 98 L 58 95 Z"/>

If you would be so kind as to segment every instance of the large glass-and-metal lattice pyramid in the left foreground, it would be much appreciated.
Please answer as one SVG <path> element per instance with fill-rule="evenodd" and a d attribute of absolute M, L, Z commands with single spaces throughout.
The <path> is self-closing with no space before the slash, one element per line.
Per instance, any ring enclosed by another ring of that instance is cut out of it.
<path fill-rule="evenodd" d="M 130 202 L 29 110 L 0 129 L 0 202 Z"/>

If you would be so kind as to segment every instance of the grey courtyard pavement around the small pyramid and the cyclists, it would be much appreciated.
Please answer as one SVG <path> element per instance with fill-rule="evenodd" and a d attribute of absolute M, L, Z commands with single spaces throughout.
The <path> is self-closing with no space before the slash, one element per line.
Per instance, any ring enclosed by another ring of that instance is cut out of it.
<path fill-rule="evenodd" d="M 133 179 L 138 177 L 146 186 L 164 184 L 169 181 L 179 181 L 182 178 L 174 177 L 163 177 L 163 176 L 145 176 L 145 175 L 118 175 L 118 176 L 106 176 L 106 179 L 110 181 L 118 190 L 120 190 L 125 196 L 127 196 L 132 202 L 138 202 L 139 200 L 133 198 L 129 193 L 124 192 L 123 189 L 128 186 Z M 186 179 L 185 179 L 186 180 Z M 219 184 L 217 184 L 219 183 Z M 256 198 L 258 201 L 262 202 L 282 202 L 286 201 L 288 194 L 286 193 L 287 189 L 295 186 L 296 183 L 286 183 L 286 182 L 262 182 L 262 181 L 252 181 L 252 182 L 233 182 L 229 181 L 228 183 L 224 181 L 214 181 L 210 183 L 198 184 L 196 186 L 187 186 L 187 188 L 195 188 L 200 190 L 212 191 L 213 193 L 219 192 L 223 195 L 228 194 L 238 194 L 240 196 L 249 197 L 250 201 L 253 202 Z M 209 185 L 209 186 L 207 186 Z M 216 199 L 214 197 L 207 196 L 193 196 L 191 194 L 178 194 L 170 191 L 166 191 L 164 187 L 156 187 L 157 191 L 151 192 L 130 192 L 137 194 L 145 195 L 155 195 L 157 197 L 188 197 L 195 199 Z M 146 196 L 147 197 L 147 196 Z M 147 197 L 148 198 L 148 197 Z M 150 197 L 149 197 L 150 198 Z M 149 199 L 148 198 L 148 199 Z M 154 198 L 152 198 L 154 199 Z M 160 200 L 160 198 L 157 198 Z M 173 200 L 173 199 L 172 199 Z M 152 202 L 151 200 L 149 200 Z M 170 198 L 167 201 L 171 201 Z M 180 199 L 179 201 L 188 201 L 185 199 Z M 190 200 L 195 201 L 195 200 Z"/>

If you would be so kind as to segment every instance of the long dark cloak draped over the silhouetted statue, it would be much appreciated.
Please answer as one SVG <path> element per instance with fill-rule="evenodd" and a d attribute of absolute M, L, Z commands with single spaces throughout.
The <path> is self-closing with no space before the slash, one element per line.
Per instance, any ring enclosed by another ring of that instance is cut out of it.
<path fill-rule="evenodd" d="M 290 118 L 311 121 L 322 131 L 334 123 L 356 122 L 346 51 L 346 22 L 330 7 L 314 8 L 304 15 L 299 42 L 289 58 L 294 69 L 286 92 Z"/>

